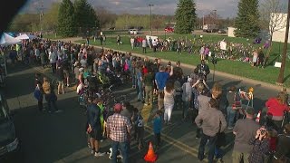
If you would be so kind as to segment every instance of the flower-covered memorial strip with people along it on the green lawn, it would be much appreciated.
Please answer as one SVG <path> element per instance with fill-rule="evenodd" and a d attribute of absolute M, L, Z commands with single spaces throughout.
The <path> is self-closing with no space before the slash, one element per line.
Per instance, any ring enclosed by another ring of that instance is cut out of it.
<path fill-rule="evenodd" d="M 143 41 L 145 41 L 154 53 L 157 51 L 174 51 L 177 52 L 177 54 L 199 54 L 201 60 L 205 60 L 206 62 L 208 62 L 210 56 L 214 55 L 219 59 L 248 62 L 252 66 L 262 68 L 267 64 L 265 52 L 269 47 L 269 42 L 266 41 L 262 44 L 260 38 L 256 38 L 253 43 L 250 41 L 247 43 L 234 43 L 228 42 L 225 39 L 215 42 L 204 39 L 203 37 L 197 38 L 196 35 L 194 35 L 193 38 L 179 39 L 171 37 L 162 39 L 157 36 L 155 37 L 156 38 L 145 38 L 141 36 L 131 37 L 131 48 L 142 47 L 143 53 L 146 53 L 146 46 L 143 45 Z M 258 46 L 256 46 L 256 44 L 258 44 Z"/>

